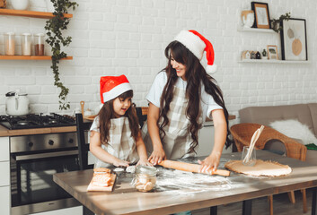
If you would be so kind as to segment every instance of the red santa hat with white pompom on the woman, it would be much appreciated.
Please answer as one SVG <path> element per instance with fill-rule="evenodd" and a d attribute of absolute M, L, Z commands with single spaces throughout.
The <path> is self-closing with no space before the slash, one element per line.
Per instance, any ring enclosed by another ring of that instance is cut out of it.
<path fill-rule="evenodd" d="M 181 44 L 187 47 L 199 60 L 203 58 L 204 51 L 206 51 L 206 72 L 216 73 L 214 47 L 208 39 L 204 38 L 196 30 L 181 30 L 175 37 L 175 40 L 181 42 Z"/>

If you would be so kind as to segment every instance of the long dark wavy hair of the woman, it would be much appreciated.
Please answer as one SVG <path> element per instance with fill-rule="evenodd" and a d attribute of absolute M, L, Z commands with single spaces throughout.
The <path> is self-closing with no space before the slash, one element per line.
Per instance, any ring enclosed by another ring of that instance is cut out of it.
<path fill-rule="evenodd" d="M 201 114 L 201 83 L 204 84 L 206 92 L 214 98 L 216 104 L 218 104 L 220 107 L 223 107 L 224 109 L 225 121 L 227 123 L 227 136 L 225 146 L 226 148 L 228 148 L 233 143 L 233 141 L 229 139 L 229 114 L 225 107 L 223 93 L 217 85 L 216 80 L 206 73 L 205 68 L 200 64 L 198 58 L 194 56 L 188 48 L 186 48 L 178 41 L 172 41 L 165 48 L 165 56 L 168 59 L 168 64 L 163 71 L 167 73 L 167 82 L 163 88 L 163 94 L 161 97 L 162 108 L 160 108 L 159 117 L 163 118 L 163 123 L 159 126 L 160 133 L 163 133 L 164 136 L 165 132 L 163 131 L 163 127 L 169 124 L 167 113 L 170 110 L 170 104 L 173 99 L 173 87 L 178 79 L 176 70 L 172 68 L 171 64 L 171 59 L 173 58 L 176 62 L 184 64 L 186 66 L 186 98 L 189 99 L 188 106 L 186 107 L 186 116 L 189 117 L 190 125 L 188 130 L 193 140 L 193 142 L 190 143 L 190 148 L 188 152 L 196 152 L 194 149 L 198 145 L 198 130 L 202 127 L 201 124 L 198 124 L 198 118 Z"/>

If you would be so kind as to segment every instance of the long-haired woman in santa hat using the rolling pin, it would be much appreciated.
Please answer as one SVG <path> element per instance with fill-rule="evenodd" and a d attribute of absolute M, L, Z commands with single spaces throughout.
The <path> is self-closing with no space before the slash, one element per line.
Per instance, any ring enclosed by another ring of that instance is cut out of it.
<path fill-rule="evenodd" d="M 225 142 L 227 147 L 232 143 L 222 91 L 200 64 L 205 51 L 207 71 L 215 72 L 214 49 L 195 30 L 182 30 L 165 48 L 168 64 L 156 75 L 146 97 L 150 105 L 143 132 L 154 165 L 163 159 L 194 156 L 206 117 L 213 119 L 215 144 L 206 159 L 198 160 L 200 170 L 216 169 Z"/>

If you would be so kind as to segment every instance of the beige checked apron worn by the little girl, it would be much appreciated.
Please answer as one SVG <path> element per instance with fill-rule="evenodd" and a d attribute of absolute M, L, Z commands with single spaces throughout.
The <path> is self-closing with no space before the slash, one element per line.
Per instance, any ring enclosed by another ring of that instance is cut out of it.
<path fill-rule="evenodd" d="M 108 153 L 118 159 L 129 161 L 130 164 L 136 163 L 138 160 L 136 142 L 131 136 L 128 117 L 110 119 L 109 136 L 109 144 L 106 146 L 101 144 L 102 149 L 107 150 Z M 111 164 L 97 159 L 94 166 L 95 168 L 109 168 Z"/>

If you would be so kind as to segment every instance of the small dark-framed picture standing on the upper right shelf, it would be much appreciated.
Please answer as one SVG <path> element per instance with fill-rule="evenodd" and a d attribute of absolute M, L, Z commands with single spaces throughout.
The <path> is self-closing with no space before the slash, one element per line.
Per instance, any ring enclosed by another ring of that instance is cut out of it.
<path fill-rule="evenodd" d="M 251 2 L 251 9 L 254 11 L 255 22 L 253 28 L 270 29 L 269 22 L 269 4 L 260 2 Z"/>

